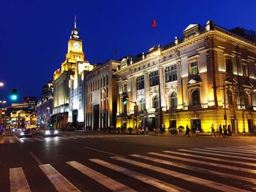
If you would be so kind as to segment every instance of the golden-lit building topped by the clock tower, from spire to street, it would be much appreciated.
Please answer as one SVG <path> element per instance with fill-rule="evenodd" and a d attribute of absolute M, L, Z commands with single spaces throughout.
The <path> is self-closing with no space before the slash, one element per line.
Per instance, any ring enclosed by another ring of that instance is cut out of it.
<path fill-rule="evenodd" d="M 78 28 L 72 30 L 68 41 L 65 61 L 61 69 L 53 74 L 53 119 L 56 128 L 65 128 L 68 123 L 69 112 L 69 79 L 75 74 L 77 61 L 84 61 L 82 39 L 80 39 Z"/>

